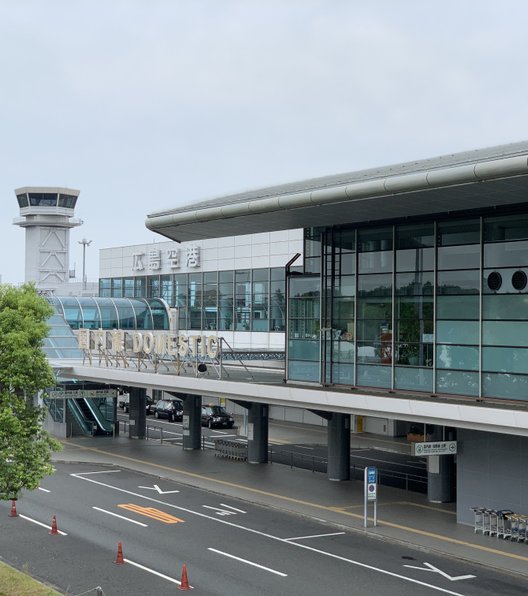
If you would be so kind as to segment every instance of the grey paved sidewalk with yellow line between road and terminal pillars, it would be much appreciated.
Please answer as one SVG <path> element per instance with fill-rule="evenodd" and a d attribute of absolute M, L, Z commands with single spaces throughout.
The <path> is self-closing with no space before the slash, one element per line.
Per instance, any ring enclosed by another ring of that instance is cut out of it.
<path fill-rule="evenodd" d="M 418 493 L 380 486 L 378 525 L 370 520 L 365 529 L 362 482 L 330 482 L 324 474 L 281 464 L 251 465 L 215 457 L 212 450 L 183 451 L 126 437 L 63 444 L 54 454 L 57 462 L 122 466 L 528 577 L 528 544 L 475 534 L 473 527 L 456 523 L 454 504 L 430 504 Z"/>

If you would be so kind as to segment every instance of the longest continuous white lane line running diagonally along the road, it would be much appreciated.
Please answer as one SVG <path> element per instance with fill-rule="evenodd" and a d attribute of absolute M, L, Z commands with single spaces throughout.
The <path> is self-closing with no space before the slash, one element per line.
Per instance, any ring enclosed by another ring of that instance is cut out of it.
<path fill-rule="evenodd" d="M 116 490 L 118 492 L 122 492 L 127 495 L 139 497 L 140 499 L 145 499 L 146 501 L 158 503 L 159 505 L 164 505 L 165 507 L 177 509 L 178 511 L 184 511 L 186 513 L 190 513 L 191 515 L 196 515 L 198 517 L 203 517 L 205 519 L 214 520 L 218 524 L 225 524 L 226 526 L 230 526 L 231 528 L 238 528 L 239 530 L 249 532 L 250 534 L 255 534 L 257 536 L 263 536 L 264 538 L 269 538 L 270 540 L 277 540 L 278 542 L 283 542 L 284 544 L 290 544 L 292 546 L 296 546 L 297 548 L 304 548 L 311 552 L 318 553 L 320 555 L 324 555 L 324 556 L 330 557 L 332 559 L 337 559 L 339 561 L 344 561 L 345 563 L 350 563 L 351 565 L 356 565 L 357 567 L 362 567 L 363 569 L 370 569 L 371 571 L 375 571 L 375 572 L 381 573 L 383 575 L 389 575 L 390 577 L 396 577 L 398 579 L 410 582 L 412 584 L 418 584 L 420 586 L 425 586 L 427 588 L 431 588 L 431 589 L 437 590 L 439 592 L 444 592 L 445 594 L 451 594 L 452 596 L 464 596 L 463 594 L 459 594 L 458 592 L 451 592 L 450 590 L 440 588 L 439 586 L 435 586 L 434 584 L 428 584 L 426 582 L 419 581 L 412 577 L 400 575 L 399 573 L 394 573 L 394 572 L 388 571 L 386 569 L 381 569 L 380 567 L 374 567 L 373 565 L 367 565 L 366 563 L 361 563 L 360 561 L 355 561 L 353 559 L 346 559 L 345 557 L 341 557 L 339 555 L 335 555 L 333 553 L 329 553 L 329 552 L 314 548 L 312 546 L 307 546 L 306 544 L 299 544 L 298 542 L 288 542 L 288 541 L 284 540 L 283 538 L 279 538 L 278 536 L 273 536 L 273 534 L 267 534 L 266 532 L 261 532 L 260 530 L 255 530 L 253 528 L 247 528 L 245 526 L 241 526 L 240 524 L 236 524 L 234 522 L 229 522 L 225 519 L 220 519 L 219 517 L 213 517 L 211 515 L 206 515 L 205 513 L 201 513 L 199 511 L 193 511 L 192 509 L 187 509 L 186 507 L 181 507 L 180 505 L 174 505 L 173 503 L 167 503 L 167 501 L 161 501 L 159 499 L 154 499 L 153 497 L 147 497 L 146 495 L 142 495 L 141 493 L 135 493 L 130 490 L 126 490 L 124 488 L 119 488 L 118 486 L 112 486 L 111 484 L 105 484 L 104 482 L 99 482 L 98 480 L 93 480 L 92 478 L 84 478 L 80 474 L 70 474 L 70 476 L 72 476 L 74 478 L 78 478 L 79 480 L 85 480 L 86 482 L 92 482 L 93 484 L 98 484 L 99 486 L 104 486 L 106 488 L 110 488 L 112 490 Z M 324 521 L 324 520 L 321 520 L 321 521 Z"/>

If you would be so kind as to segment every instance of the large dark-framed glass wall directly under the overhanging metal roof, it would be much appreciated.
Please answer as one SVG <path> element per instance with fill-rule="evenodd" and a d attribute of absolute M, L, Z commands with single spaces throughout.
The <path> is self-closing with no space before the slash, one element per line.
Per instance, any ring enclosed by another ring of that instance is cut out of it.
<path fill-rule="evenodd" d="M 528 400 L 528 214 L 305 231 L 288 379 Z"/>

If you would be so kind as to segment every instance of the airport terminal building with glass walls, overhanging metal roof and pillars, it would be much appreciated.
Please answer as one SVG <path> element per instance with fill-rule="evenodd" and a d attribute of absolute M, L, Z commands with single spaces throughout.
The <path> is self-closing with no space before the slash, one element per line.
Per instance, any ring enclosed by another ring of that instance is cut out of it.
<path fill-rule="evenodd" d="M 179 377 L 179 391 L 249 407 L 260 444 L 270 407 L 324 418 L 335 480 L 358 420 L 395 435 L 427 425 L 425 439 L 457 445 L 428 460 L 430 500 L 456 489 L 461 522 L 473 505 L 528 513 L 528 142 L 220 197 L 146 225 L 168 241 L 101 251 L 100 297 L 161 298 L 179 333 L 247 359 L 284 354 L 273 382 Z"/>

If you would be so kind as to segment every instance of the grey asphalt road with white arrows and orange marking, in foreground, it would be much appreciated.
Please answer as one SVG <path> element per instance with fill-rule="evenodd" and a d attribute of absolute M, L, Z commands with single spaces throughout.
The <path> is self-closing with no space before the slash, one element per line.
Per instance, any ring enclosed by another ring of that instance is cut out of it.
<path fill-rule="evenodd" d="M 472 563 L 118 467 L 59 464 L 17 509 L 0 504 L 2 559 L 72 595 L 175 594 L 184 564 L 207 595 L 526 593 Z M 49 534 L 53 515 L 65 535 Z"/>

